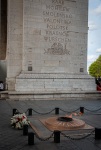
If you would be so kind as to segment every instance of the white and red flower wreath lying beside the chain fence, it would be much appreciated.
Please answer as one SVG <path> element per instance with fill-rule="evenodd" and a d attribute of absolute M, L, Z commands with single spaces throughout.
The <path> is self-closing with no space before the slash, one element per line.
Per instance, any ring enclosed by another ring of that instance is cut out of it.
<path fill-rule="evenodd" d="M 25 113 L 23 114 L 15 114 L 11 118 L 11 126 L 16 129 L 22 129 L 23 125 L 29 125 L 30 121 L 28 121 Z"/>

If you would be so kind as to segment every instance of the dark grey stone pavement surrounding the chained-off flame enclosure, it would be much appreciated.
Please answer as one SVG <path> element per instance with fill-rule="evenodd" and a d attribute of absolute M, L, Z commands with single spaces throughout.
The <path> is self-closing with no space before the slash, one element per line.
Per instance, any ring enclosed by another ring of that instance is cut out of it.
<path fill-rule="evenodd" d="M 22 130 L 16 130 L 10 125 L 12 110 L 16 108 L 19 112 L 26 112 L 28 108 L 33 108 L 37 112 L 46 113 L 59 107 L 62 110 L 70 111 L 84 107 L 85 113 L 80 116 L 87 124 L 94 128 L 101 127 L 101 100 L 54 100 L 54 101 L 11 101 L 0 100 L 0 150 L 101 150 L 101 140 L 95 140 L 95 135 L 86 137 L 85 139 L 73 140 L 66 137 L 60 138 L 60 143 L 54 143 L 54 138 L 48 141 L 40 141 L 34 137 L 34 145 L 28 145 L 28 136 L 23 136 Z M 86 110 L 88 109 L 88 110 Z M 94 110 L 98 110 L 95 111 Z M 90 111 L 93 110 L 93 113 Z M 59 111 L 61 115 L 65 114 Z M 33 116 L 39 116 L 33 112 Z M 52 112 L 54 115 L 54 112 Z M 41 115 L 40 115 L 41 116 Z M 39 126 L 40 131 L 42 127 Z M 29 127 L 29 131 L 32 129 Z M 45 132 L 45 131 L 42 131 Z"/>

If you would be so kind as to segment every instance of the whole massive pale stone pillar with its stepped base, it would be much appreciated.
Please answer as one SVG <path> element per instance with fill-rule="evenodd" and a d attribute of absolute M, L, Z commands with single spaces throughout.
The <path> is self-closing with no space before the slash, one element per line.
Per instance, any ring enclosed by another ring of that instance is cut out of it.
<path fill-rule="evenodd" d="M 9 93 L 53 99 L 95 91 L 87 36 L 88 0 L 8 0 Z"/>

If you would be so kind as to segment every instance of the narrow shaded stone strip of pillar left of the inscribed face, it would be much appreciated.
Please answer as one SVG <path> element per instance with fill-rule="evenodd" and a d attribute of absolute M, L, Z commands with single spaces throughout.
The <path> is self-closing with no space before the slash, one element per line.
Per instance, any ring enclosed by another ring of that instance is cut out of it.
<path fill-rule="evenodd" d="M 15 90 L 15 77 L 22 70 L 23 0 L 8 0 L 7 82 Z"/>

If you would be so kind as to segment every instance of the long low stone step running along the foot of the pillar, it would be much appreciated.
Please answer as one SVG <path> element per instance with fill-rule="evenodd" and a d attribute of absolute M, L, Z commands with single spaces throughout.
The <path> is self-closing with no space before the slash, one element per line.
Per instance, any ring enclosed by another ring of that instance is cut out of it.
<path fill-rule="evenodd" d="M 3 91 L 0 93 L 1 99 L 11 100 L 86 100 L 86 99 L 101 99 L 100 91 L 64 91 L 64 92 L 16 92 Z"/>

